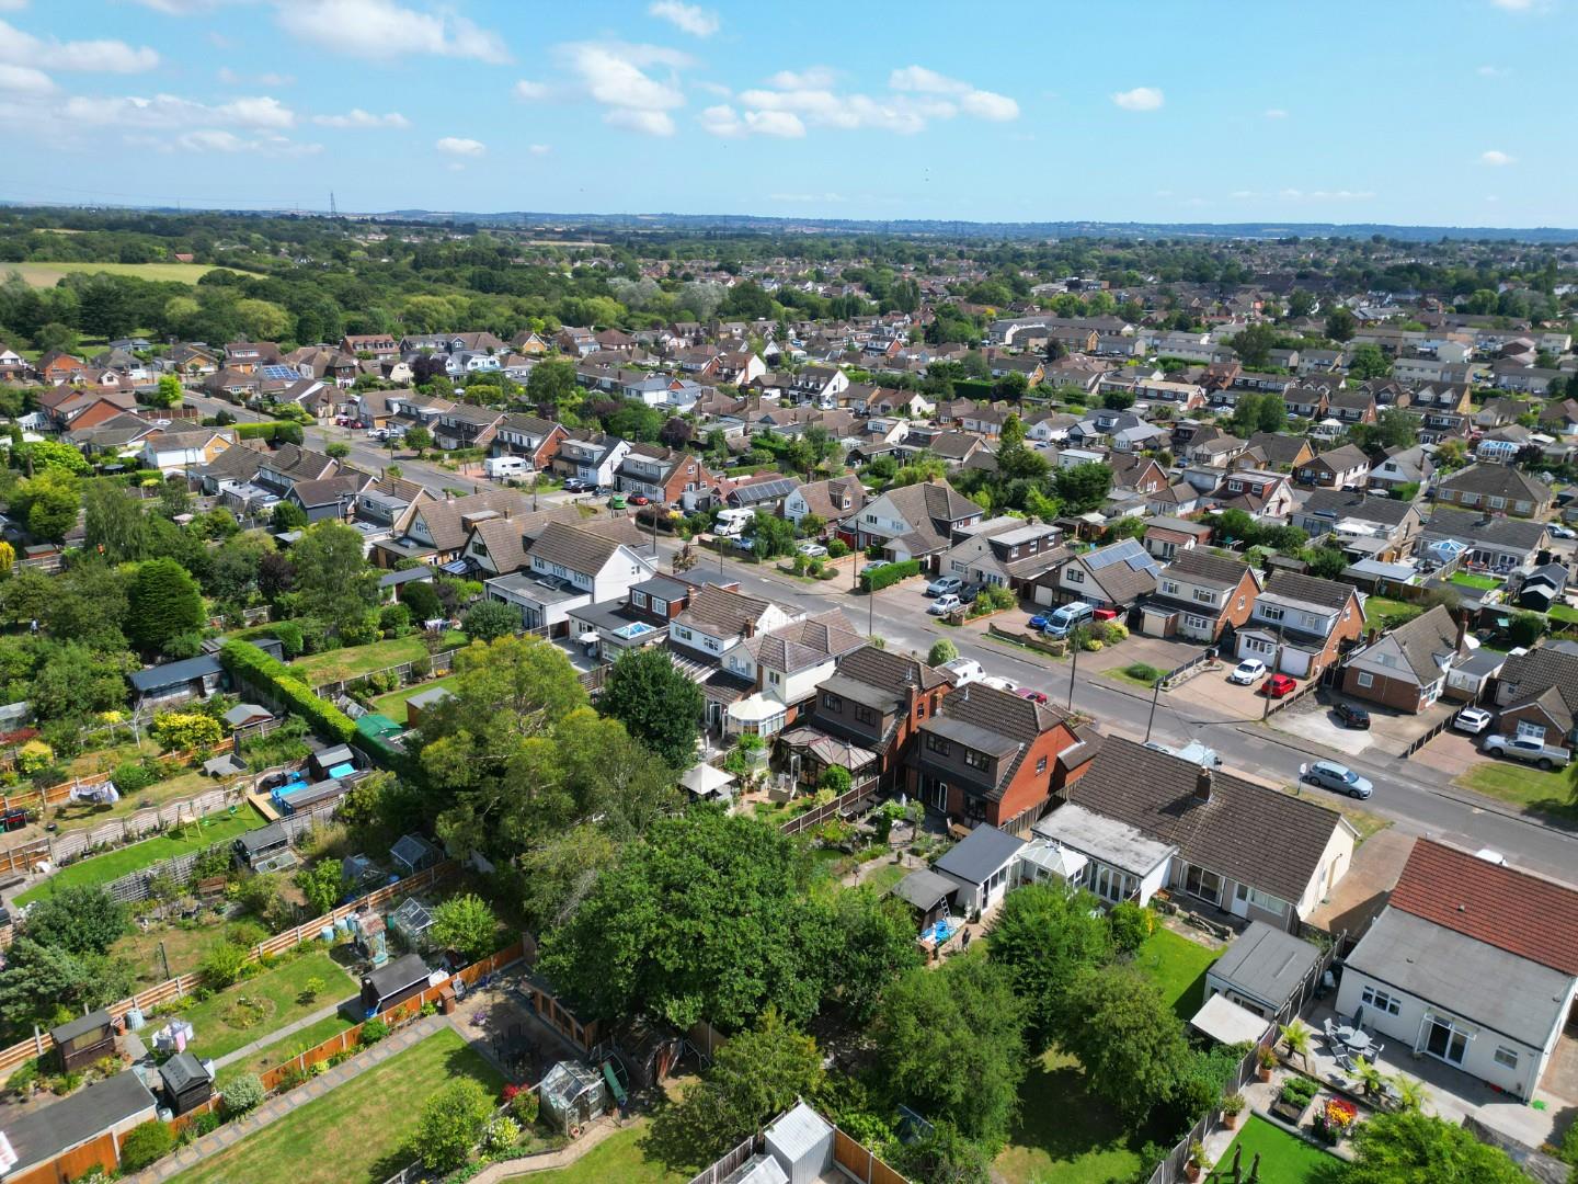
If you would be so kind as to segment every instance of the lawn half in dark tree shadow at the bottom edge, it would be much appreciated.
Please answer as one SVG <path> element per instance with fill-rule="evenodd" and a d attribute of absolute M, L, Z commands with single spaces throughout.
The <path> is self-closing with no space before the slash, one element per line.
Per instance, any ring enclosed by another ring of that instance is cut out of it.
<path fill-rule="evenodd" d="M 1019 1086 L 1019 1121 L 993 1163 L 1007 1184 L 1119 1184 L 1142 1167 L 1149 1133 L 1131 1133 L 1084 1088 L 1084 1069 L 1056 1048 L 1030 1062 Z"/>

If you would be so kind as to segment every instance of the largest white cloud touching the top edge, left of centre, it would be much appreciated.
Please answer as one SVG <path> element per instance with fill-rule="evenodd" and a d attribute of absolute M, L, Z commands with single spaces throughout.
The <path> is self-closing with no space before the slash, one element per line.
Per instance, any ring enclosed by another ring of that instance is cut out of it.
<path fill-rule="evenodd" d="M 292 36 L 350 57 L 510 60 L 503 38 L 475 21 L 445 9 L 420 13 L 394 0 L 279 0 L 278 21 Z"/>

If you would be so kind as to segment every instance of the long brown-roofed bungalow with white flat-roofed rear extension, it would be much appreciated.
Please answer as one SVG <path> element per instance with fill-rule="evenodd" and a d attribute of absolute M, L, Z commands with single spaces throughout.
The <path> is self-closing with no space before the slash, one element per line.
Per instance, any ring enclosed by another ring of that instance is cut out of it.
<path fill-rule="evenodd" d="M 1144 905 L 1168 887 L 1286 931 L 1348 873 L 1357 838 L 1337 810 L 1117 736 L 1065 775 L 1057 799 L 1065 805 L 1035 834 L 1087 856 L 1081 882 L 1105 900 Z M 1079 813 L 1065 816 L 1070 807 Z M 1117 834 L 1101 834 L 1094 818 Z M 1100 843 L 1089 841 L 1092 830 Z M 1131 848 L 1124 832 L 1146 845 Z M 1146 876 L 1136 856 L 1152 865 Z"/>

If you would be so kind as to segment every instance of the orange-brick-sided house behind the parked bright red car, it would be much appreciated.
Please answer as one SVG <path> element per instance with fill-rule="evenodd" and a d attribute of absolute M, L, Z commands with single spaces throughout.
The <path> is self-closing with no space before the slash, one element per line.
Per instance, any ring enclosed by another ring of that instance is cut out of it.
<path fill-rule="evenodd" d="M 1297 571 L 1275 571 L 1261 589 L 1250 620 L 1239 628 L 1239 658 L 1259 658 L 1273 671 L 1313 679 L 1363 633 L 1365 613 L 1349 584 Z"/>

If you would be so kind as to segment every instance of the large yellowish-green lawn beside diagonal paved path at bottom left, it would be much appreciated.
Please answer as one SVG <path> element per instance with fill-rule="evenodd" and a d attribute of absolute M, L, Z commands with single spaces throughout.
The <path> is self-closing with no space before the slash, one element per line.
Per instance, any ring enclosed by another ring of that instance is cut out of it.
<path fill-rule="evenodd" d="M 404 1145 L 421 1119 L 421 1103 L 456 1077 L 481 1081 L 495 1097 L 503 1086 L 499 1072 L 472 1051 L 459 1032 L 440 1028 L 174 1181 L 380 1184 L 410 1162 Z"/>

